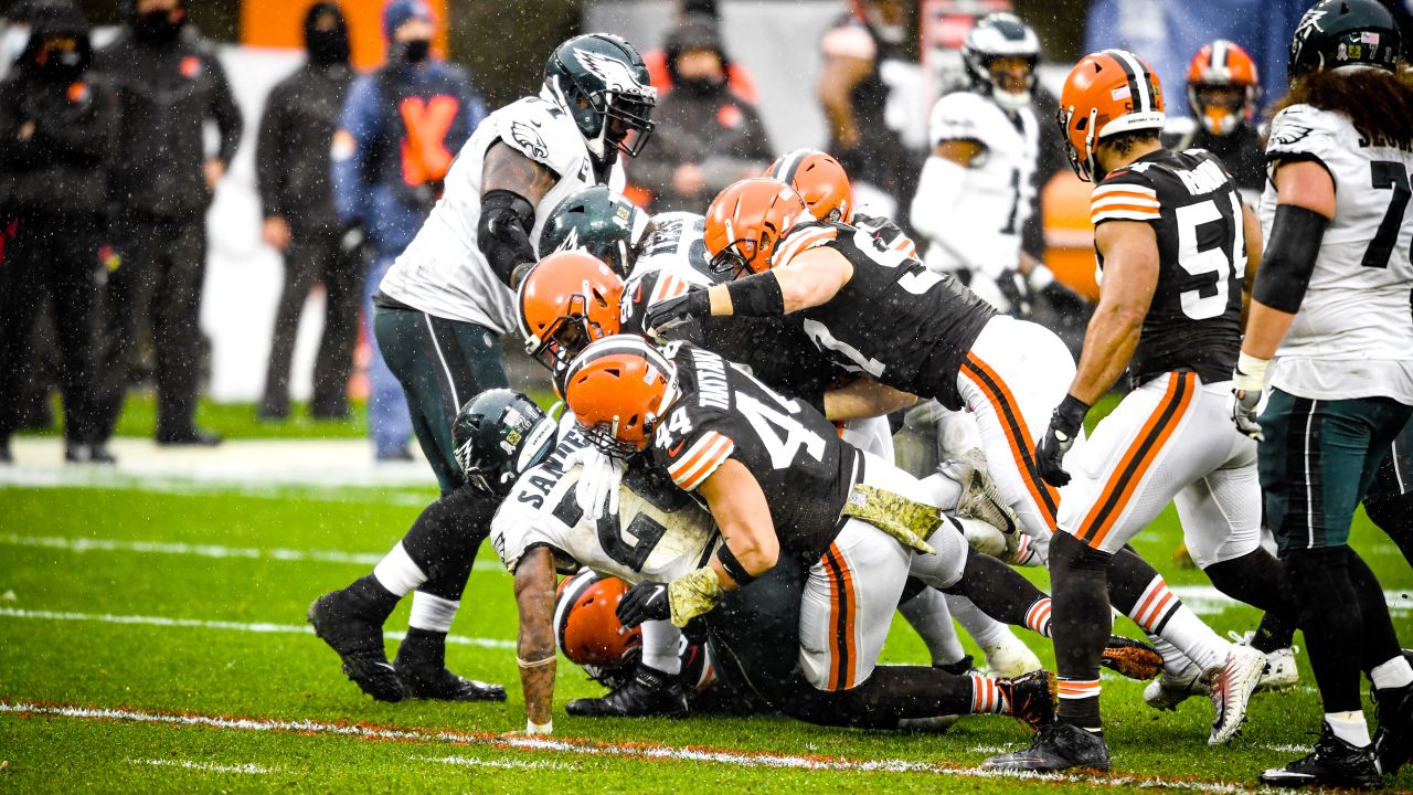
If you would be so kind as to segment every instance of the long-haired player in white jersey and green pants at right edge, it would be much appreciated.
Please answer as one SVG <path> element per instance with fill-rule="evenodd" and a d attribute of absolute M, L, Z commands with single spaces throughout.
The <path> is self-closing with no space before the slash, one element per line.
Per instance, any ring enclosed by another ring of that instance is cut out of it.
<path fill-rule="evenodd" d="M 1262 774 L 1280 787 L 1376 787 L 1413 750 L 1413 668 L 1348 543 L 1358 501 L 1413 413 L 1413 78 L 1400 38 L 1376 0 L 1316 3 L 1290 42 L 1290 93 L 1266 143 L 1270 243 L 1234 419 L 1262 440 L 1266 515 L 1324 702 L 1314 751 Z M 1361 671 L 1378 704 L 1372 740 Z"/>

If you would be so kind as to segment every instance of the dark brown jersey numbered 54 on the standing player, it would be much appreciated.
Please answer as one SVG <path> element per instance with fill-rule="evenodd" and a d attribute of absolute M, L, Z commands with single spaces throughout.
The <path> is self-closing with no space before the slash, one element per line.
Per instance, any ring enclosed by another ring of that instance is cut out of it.
<path fill-rule="evenodd" d="M 1095 228 L 1137 221 L 1150 224 L 1157 238 L 1157 289 L 1129 364 L 1133 386 L 1173 371 L 1194 371 L 1205 383 L 1231 381 L 1246 274 L 1241 208 L 1231 174 L 1200 149 L 1157 150 L 1095 185 Z M 1098 265 L 1102 284 L 1102 256 Z"/>

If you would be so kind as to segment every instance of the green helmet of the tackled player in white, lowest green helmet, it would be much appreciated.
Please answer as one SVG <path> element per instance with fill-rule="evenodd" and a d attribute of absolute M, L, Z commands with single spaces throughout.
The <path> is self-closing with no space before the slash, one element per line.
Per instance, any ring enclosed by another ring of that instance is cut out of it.
<path fill-rule="evenodd" d="M 452 450 L 466 482 L 504 498 L 520 472 L 554 450 L 558 423 L 534 400 L 513 389 L 487 389 L 456 413 Z"/>

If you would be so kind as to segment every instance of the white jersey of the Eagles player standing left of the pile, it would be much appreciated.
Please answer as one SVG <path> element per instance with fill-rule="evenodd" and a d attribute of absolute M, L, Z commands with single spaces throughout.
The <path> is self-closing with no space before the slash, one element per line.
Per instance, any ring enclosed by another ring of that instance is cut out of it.
<path fill-rule="evenodd" d="M 531 246 L 550 212 L 569 194 L 598 184 L 589 149 L 567 113 L 547 96 L 526 96 L 496 110 L 476 127 L 447 173 L 442 198 L 380 284 L 397 301 L 427 314 L 485 325 L 499 334 L 516 327 L 516 296 L 495 274 L 480 246 L 480 175 L 486 151 L 504 141 L 554 171 L 555 182 L 536 205 Z M 623 166 L 615 163 L 609 187 L 622 191 Z"/>

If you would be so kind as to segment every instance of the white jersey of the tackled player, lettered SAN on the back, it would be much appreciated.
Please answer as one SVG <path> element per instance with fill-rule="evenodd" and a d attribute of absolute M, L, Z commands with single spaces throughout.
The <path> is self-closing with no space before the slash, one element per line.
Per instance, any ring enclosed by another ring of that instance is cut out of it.
<path fill-rule="evenodd" d="M 561 570 L 588 566 L 633 584 L 671 581 L 706 566 L 721 540 L 711 515 L 664 475 L 634 467 L 619 487 L 617 519 L 584 518 L 575 497 L 579 465 L 567 455 L 588 446 L 565 413 L 550 458 L 524 471 L 490 522 L 490 543 L 510 571 L 536 546 Z"/>

